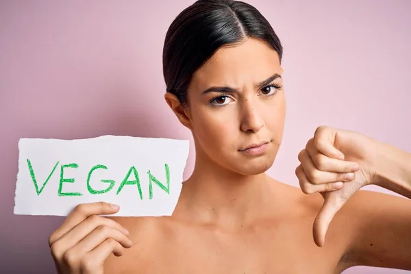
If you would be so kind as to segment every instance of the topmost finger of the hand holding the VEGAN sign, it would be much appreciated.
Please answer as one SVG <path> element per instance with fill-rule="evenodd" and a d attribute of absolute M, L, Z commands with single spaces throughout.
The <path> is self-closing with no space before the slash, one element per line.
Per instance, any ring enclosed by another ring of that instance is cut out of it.
<path fill-rule="evenodd" d="M 51 234 L 49 238 L 49 246 L 54 244 L 57 240 L 62 238 L 64 234 L 69 232 L 77 224 L 81 223 L 90 215 L 98 214 L 114 214 L 119 211 L 119 206 L 111 203 L 97 202 L 97 203 L 82 203 L 75 207 L 66 217 L 62 225 Z"/>

